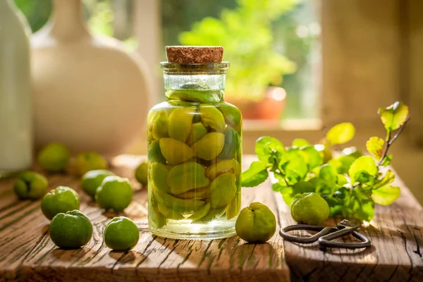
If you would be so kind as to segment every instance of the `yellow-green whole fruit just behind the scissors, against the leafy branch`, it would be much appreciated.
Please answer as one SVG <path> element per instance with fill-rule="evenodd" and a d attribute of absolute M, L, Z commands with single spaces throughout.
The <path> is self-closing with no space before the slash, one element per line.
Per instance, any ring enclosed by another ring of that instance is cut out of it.
<path fill-rule="evenodd" d="M 290 212 L 298 223 L 318 225 L 329 218 L 329 204 L 317 193 L 302 193 L 294 197 Z"/>

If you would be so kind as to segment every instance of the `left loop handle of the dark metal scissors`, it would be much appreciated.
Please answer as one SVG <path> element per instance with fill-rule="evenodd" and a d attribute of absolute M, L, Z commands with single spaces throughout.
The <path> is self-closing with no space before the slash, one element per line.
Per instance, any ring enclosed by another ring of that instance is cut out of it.
<path fill-rule="evenodd" d="M 309 237 L 301 237 L 301 236 L 296 236 L 296 235 L 292 235 L 288 233 L 289 231 L 296 231 L 296 230 L 308 230 L 308 231 L 319 231 L 319 232 Z M 313 225 L 307 225 L 307 224 L 295 224 L 295 225 L 290 225 L 290 226 L 281 228 L 281 231 L 279 231 L 279 234 L 282 236 L 282 238 L 288 241 L 307 244 L 307 243 L 316 242 L 321 236 L 329 234 L 333 232 L 333 230 L 337 230 L 337 229 L 333 227 L 313 226 Z"/>

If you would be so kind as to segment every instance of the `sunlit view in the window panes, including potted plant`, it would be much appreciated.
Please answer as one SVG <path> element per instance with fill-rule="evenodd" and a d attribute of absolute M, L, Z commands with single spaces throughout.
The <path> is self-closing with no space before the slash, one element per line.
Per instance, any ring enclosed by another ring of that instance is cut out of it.
<path fill-rule="evenodd" d="M 147 8 L 142 5 L 147 1 L 84 0 L 90 30 L 122 40 L 128 50 L 142 49 L 149 42 L 135 32 L 136 2 L 141 9 Z M 278 5 L 236 0 L 161 1 L 159 60 L 166 61 L 167 45 L 222 45 L 224 59 L 232 63 L 226 100 L 240 106 L 245 117 L 273 121 L 317 118 L 319 7 L 316 1 L 273 2 Z M 47 22 L 52 8 L 51 1 L 16 0 L 16 4 L 32 32 Z M 283 89 L 269 88 L 272 86 Z M 163 92 L 158 95 L 164 99 Z"/>

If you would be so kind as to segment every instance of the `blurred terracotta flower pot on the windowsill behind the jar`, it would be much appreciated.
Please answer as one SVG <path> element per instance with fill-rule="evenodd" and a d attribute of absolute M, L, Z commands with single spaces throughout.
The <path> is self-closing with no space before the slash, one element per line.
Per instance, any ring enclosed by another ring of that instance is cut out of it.
<path fill-rule="evenodd" d="M 283 109 L 285 109 L 286 92 L 282 87 L 271 86 L 267 88 L 266 94 L 259 102 L 231 97 L 225 97 L 225 99 L 238 106 L 244 119 L 275 121 L 281 118 Z"/>

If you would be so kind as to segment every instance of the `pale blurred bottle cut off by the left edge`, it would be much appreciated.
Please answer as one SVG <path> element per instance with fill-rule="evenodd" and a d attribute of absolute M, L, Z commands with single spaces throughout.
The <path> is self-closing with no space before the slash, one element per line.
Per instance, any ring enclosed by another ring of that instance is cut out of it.
<path fill-rule="evenodd" d="M 32 164 L 30 29 L 11 0 L 0 1 L 0 178 Z"/>

